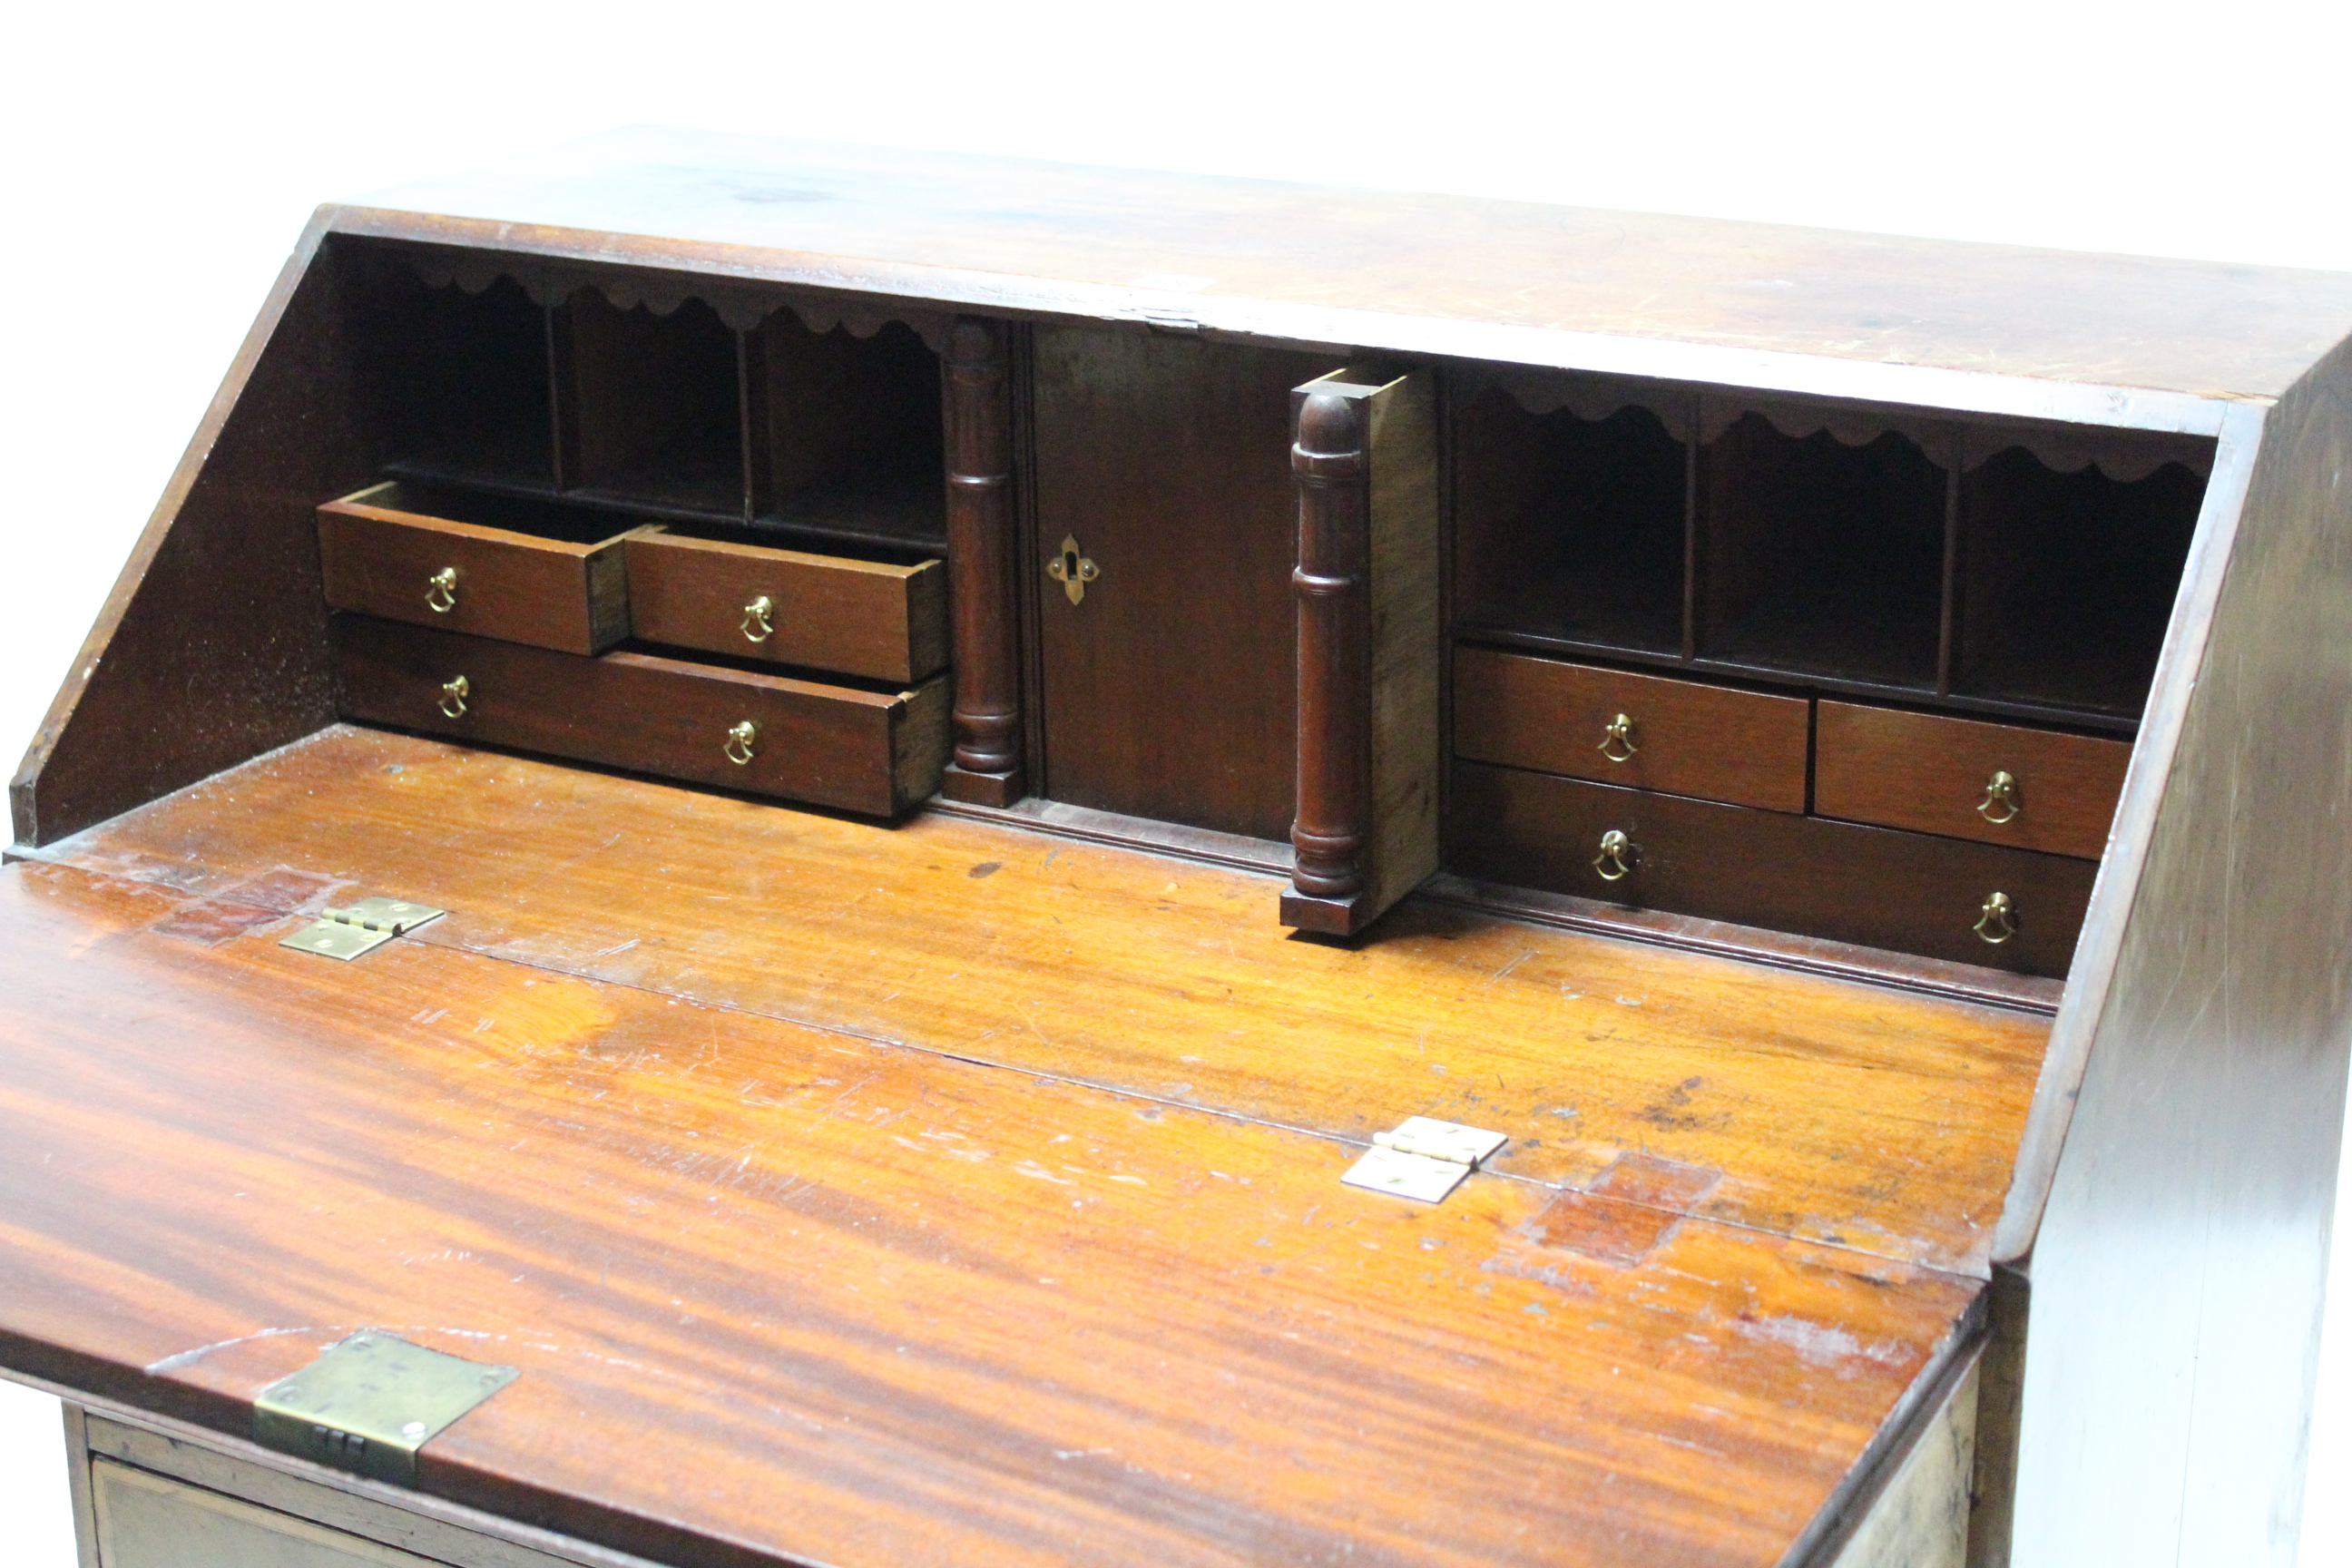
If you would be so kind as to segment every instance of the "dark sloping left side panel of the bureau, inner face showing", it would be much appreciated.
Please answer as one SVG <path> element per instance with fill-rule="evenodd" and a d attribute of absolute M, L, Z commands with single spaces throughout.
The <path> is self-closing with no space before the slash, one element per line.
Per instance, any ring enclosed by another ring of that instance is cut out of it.
<path fill-rule="evenodd" d="M 310 508 L 365 475 L 303 233 L 9 785 L 47 844 L 334 719 Z"/>

